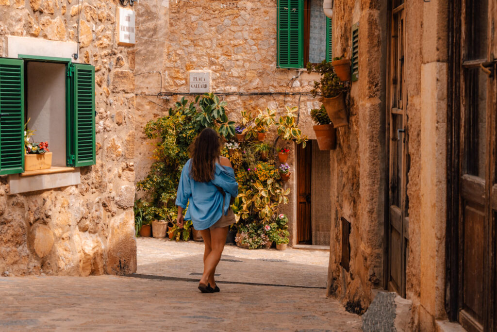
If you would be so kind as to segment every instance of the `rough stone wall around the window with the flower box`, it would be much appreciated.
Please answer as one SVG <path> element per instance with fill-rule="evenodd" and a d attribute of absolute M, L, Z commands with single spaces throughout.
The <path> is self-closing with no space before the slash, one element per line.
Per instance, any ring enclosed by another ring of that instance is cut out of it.
<path fill-rule="evenodd" d="M 8 176 L 0 176 L 0 274 L 136 271 L 135 49 L 117 46 L 117 5 L 0 0 L 2 56 L 7 36 L 75 42 L 80 17 L 79 61 L 95 66 L 97 111 L 96 165 L 80 167 L 81 184 L 10 195 Z"/>

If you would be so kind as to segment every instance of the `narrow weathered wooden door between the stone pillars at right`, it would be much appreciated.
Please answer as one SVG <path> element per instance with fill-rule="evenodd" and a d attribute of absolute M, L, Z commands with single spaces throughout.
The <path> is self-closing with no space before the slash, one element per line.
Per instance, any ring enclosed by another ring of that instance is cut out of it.
<path fill-rule="evenodd" d="M 385 288 L 406 296 L 406 261 L 409 239 L 408 128 L 405 79 L 405 3 L 392 0 L 388 68 L 387 142 L 389 150 L 388 209 L 385 231 L 388 236 Z"/>

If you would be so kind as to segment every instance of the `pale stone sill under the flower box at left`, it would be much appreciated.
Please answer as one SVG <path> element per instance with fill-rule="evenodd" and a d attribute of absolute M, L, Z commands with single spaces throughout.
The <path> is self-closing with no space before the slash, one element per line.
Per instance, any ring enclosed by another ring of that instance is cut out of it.
<path fill-rule="evenodd" d="M 8 183 L 9 194 L 12 195 L 78 185 L 81 174 L 79 167 L 52 167 L 9 175 Z"/>

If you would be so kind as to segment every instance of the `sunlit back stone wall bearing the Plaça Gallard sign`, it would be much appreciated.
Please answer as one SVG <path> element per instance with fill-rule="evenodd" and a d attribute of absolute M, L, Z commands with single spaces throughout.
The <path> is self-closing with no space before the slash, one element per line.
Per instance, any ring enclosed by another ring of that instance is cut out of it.
<path fill-rule="evenodd" d="M 166 115 L 167 109 L 189 92 L 190 70 L 212 71 L 212 92 L 228 102 L 231 119 L 239 120 L 244 109 L 270 107 L 283 114 L 284 105 L 299 106 L 299 126 L 315 138 L 309 113 L 319 103 L 309 95 L 292 93 L 309 92 L 319 76 L 276 68 L 276 0 L 141 1 L 135 7 L 140 72 L 136 77 L 137 180 L 146 176 L 152 163 L 152 146 L 142 128 L 147 121 Z M 145 43 L 147 47 L 142 47 Z M 170 96 L 158 96 L 160 92 Z M 226 92 L 254 94 L 222 94 Z M 265 94 L 255 94 L 260 92 Z M 275 135 L 268 138 L 274 140 Z M 283 146 L 280 140 L 278 148 Z M 288 163 L 293 168 L 287 185 L 292 193 L 290 203 L 281 212 L 289 217 L 294 244 L 298 170 L 293 165 L 295 147 L 287 147 L 291 150 Z"/>

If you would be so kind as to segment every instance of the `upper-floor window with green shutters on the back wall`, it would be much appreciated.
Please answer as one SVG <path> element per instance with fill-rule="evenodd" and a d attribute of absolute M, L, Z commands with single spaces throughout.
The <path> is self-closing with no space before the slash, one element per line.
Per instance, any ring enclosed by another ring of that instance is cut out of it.
<path fill-rule="evenodd" d="M 331 19 L 321 0 L 278 0 L 279 68 L 331 61 Z"/>

